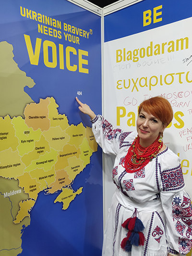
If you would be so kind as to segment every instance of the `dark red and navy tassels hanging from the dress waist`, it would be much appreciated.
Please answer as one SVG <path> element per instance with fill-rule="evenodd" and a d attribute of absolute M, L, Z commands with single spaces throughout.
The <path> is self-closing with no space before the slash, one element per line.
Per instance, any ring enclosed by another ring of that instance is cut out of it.
<path fill-rule="evenodd" d="M 121 241 L 120 246 L 127 252 L 131 252 L 132 245 L 144 245 L 145 238 L 142 232 L 144 230 L 144 224 L 141 219 L 138 219 L 137 214 L 138 211 L 135 208 L 132 217 L 126 219 L 122 224 L 122 227 L 127 229 L 128 232 L 126 237 Z"/>

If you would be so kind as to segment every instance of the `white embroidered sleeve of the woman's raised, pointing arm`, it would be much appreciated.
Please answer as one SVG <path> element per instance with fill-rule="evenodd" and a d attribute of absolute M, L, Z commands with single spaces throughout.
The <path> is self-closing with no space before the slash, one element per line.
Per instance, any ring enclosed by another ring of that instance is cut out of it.
<path fill-rule="evenodd" d="M 95 135 L 96 142 L 102 147 L 103 152 L 117 155 L 120 147 L 124 145 L 123 143 L 125 138 L 130 133 L 123 133 L 119 128 L 114 129 L 112 124 L 100 115 L 97 115 L 92 122 L 92 130 Z"/>

